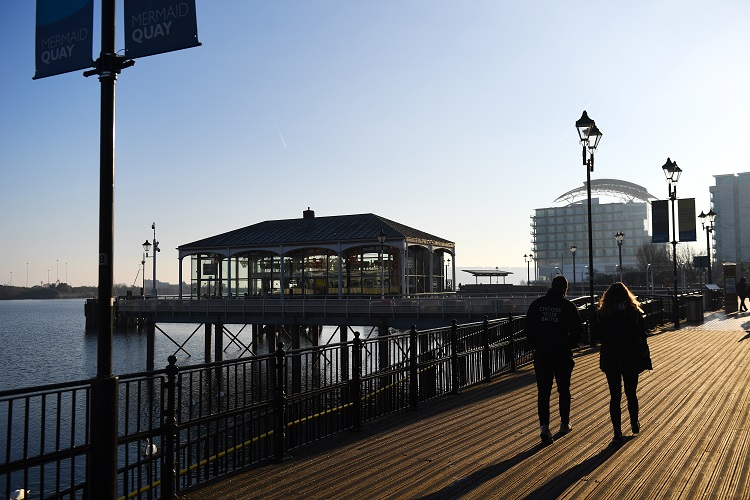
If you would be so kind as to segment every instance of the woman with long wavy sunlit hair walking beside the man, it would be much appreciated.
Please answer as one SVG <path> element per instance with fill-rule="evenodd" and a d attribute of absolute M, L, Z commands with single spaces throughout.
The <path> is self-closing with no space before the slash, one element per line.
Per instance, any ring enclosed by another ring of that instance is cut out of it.
<path fill-rule="evenodd" d="M 638 374 L 651 370 L 651 356 L 646 341 L 646 322 L 638 300 L 628 287 L 613 283 L 599 301 L 596 334 L 601 342 L 599 368 L 609 385 L 609 417 L 612 420 L 612 442 L 622 443 L 622 386 L 628 400 L 630 428 L 638 434 Z"/>

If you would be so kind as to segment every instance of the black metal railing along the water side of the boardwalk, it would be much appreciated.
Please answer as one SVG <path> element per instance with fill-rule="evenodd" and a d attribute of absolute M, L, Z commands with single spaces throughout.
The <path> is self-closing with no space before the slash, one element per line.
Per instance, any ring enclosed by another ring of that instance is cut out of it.
<path fill-rule="evenodd" d="M 642 300 L 650 328 L 671 318 L 671 297 Z M 522 316 L 454 321 L 180 369 L 171 356 L 164 370 L 123 375 L 118 494 L 172 497 L 516 370 L 533 359 L 523 326 Z M 0 494 L 86 496 L 90 394 L 91 380 L 0 392 Z"/>

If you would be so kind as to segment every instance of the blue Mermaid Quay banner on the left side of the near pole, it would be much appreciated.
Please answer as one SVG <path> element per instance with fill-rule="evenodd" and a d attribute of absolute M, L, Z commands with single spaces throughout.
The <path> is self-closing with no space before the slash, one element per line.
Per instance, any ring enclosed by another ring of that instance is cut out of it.
<path fill-rule="evenodd" d="M 93 0 L 37 0 L 34 80 L 91 68 Z"/>

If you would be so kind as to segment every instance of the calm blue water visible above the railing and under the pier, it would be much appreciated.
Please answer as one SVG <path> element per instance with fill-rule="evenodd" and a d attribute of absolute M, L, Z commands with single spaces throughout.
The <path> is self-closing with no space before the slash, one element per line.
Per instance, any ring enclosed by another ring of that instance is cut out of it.
<path fill-rule="evenodd" d="M 96 334 L 86 333 L 85 299 L 69 300 L 0 300 L 0 352 L 4 367 L 0 375 L 0 391 L 35 385 L 71 382 L 96 376 Z M 158 327 L 182 344 L 196 330 L 185 349 L 165 335 L 156 332 L 155 367 L 167 365 L 167 357 L 177 356 L 177 364 L 204 363 L 203 326 L 198 324 L 159 324 Z M 235 334 L 237 325 L 228 325 Z M 326 331 L 324 330 L 324 337 Z M 329 336 L 333 331 L 328 332 Z M 244 344 L 250 342 L 250 328 L 240 335 Z M 237 357 L 242 350 L 230 345 L 224 359 Z M 262 346 L 261 352 L 267 352 Z M 248 356 L 247 353 L 244 354 Z M 146 370 L 146 335 L 116 332 L 112 338 L 112 371 L 116 374 Z"/>

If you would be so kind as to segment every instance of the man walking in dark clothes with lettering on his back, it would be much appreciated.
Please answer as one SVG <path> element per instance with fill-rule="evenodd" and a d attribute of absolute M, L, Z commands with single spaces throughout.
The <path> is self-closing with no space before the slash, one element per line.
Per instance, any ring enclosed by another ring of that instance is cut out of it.
<path fill-rule="evenodd" d="M 565 298 L 568 280 L 556 276 L 547 295 L 534 300 L 526 313 L 524 332 L 534 347 L 534 373 L 537 386 L 537 413 L 544 444 L 554 441 L 549 430 L 549 400 L 552 380 L 557 383 L 560 411 L 559 436 L 572 430 L 570 425 L 570 377 L 573 373 L 571 349 L 581 341 L 583 324 L 578 308 Z"/>

